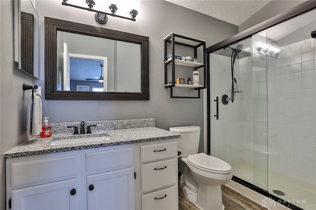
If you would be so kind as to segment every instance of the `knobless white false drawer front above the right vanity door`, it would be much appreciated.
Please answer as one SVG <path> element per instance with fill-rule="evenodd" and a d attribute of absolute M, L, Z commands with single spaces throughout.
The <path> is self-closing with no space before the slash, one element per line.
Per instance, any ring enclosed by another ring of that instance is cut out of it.
<path fill-rule="evenodd" d="M 86 171 L 112 171 L 134 165 L 134 149 L 124 148 L 86 154 Z"/>

